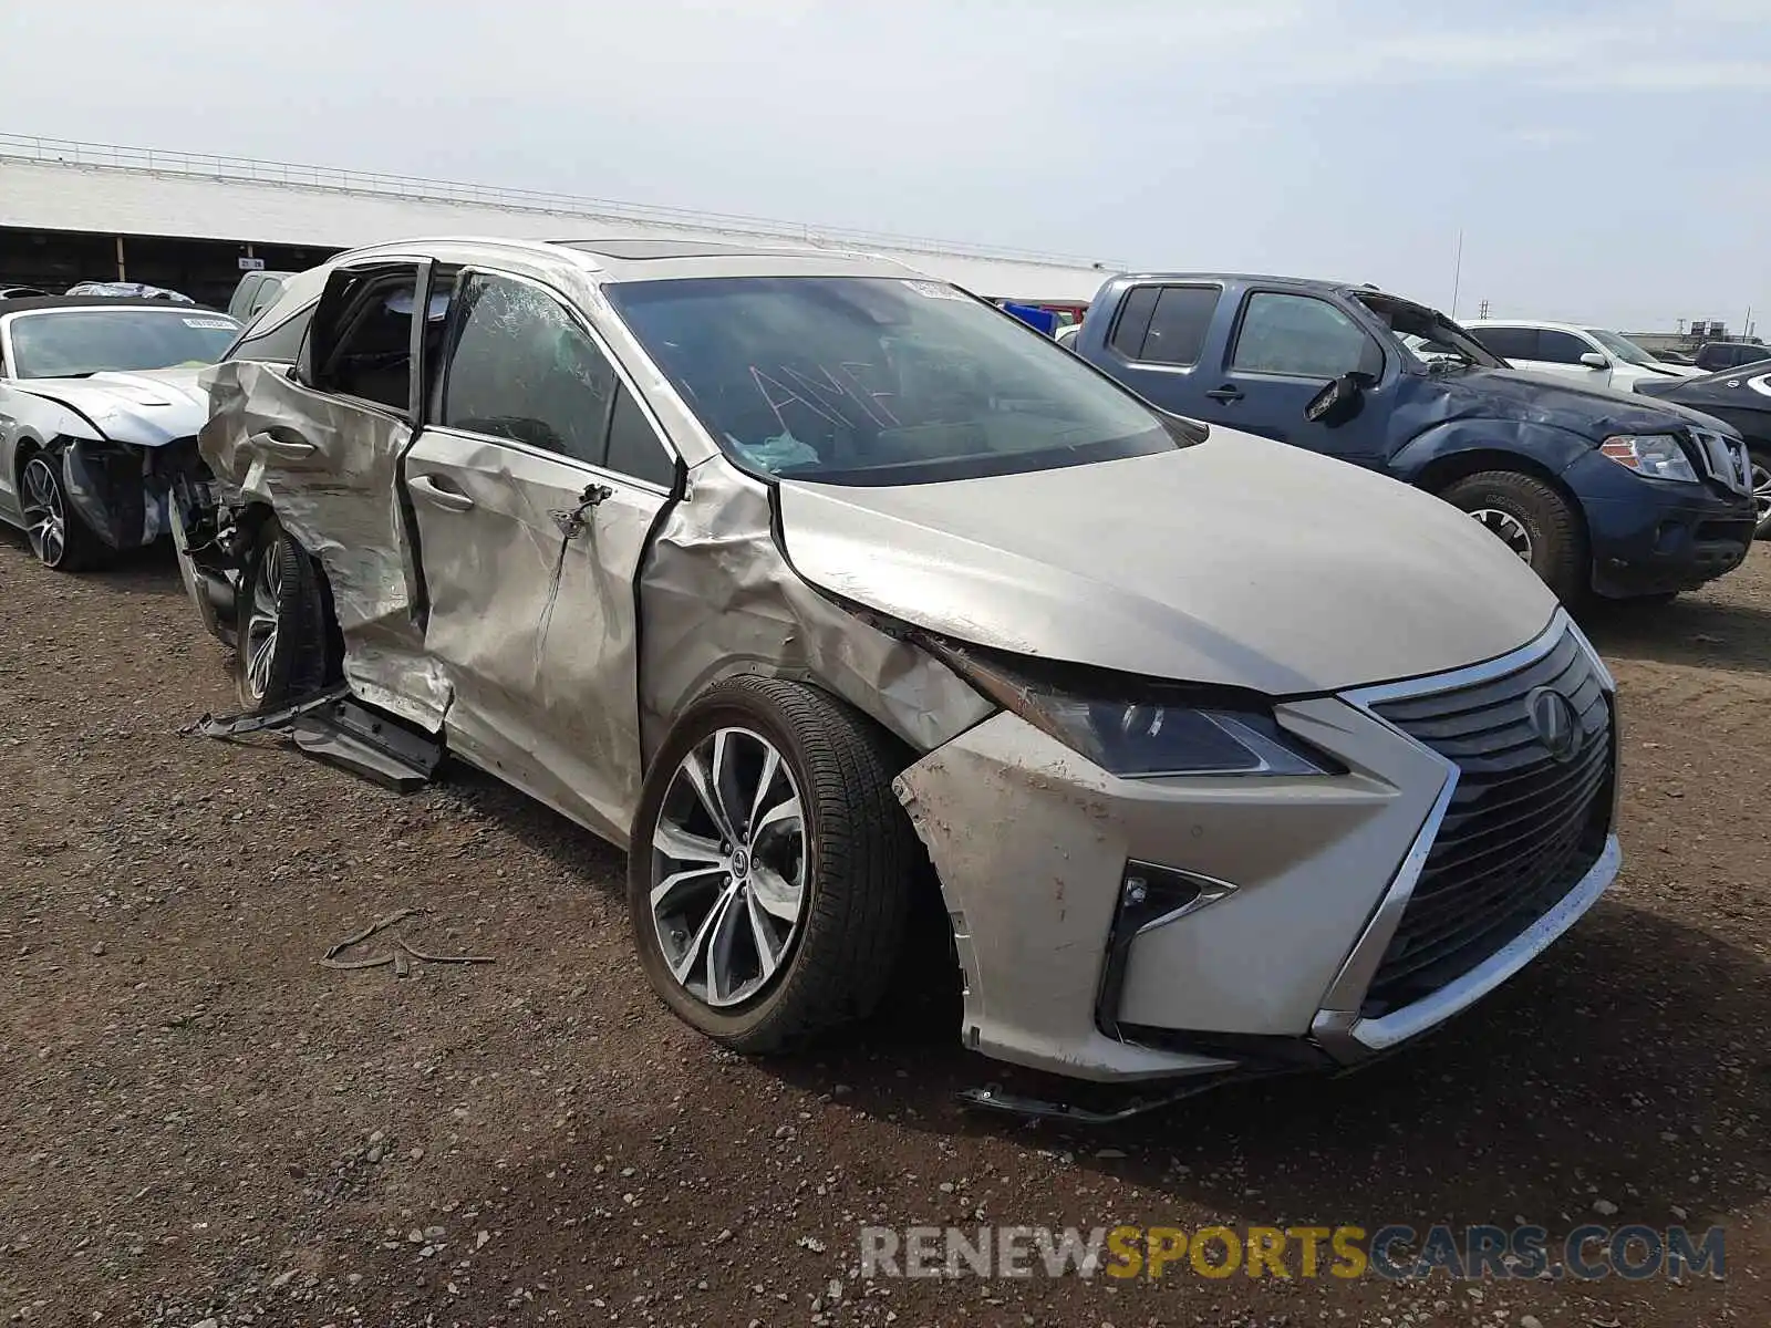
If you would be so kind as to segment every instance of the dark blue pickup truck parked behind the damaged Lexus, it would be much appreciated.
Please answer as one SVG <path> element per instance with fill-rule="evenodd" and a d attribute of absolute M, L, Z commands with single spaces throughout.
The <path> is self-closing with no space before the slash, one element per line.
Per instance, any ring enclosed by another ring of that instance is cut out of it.
<path fill-rule="evenodd" d="M 1376 287 L 1118 276 L 1071 349 L 1174 414 L 1438 494 L 1569 602 L 1672 597 L 1752 547 L 1752 466 L 1734 429 L 1516 372 L 1443 313 Z"/>

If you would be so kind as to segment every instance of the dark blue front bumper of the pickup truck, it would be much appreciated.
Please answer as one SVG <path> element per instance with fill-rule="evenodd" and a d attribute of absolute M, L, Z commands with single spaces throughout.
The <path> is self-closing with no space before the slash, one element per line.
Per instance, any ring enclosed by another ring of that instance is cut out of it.
<path fill-rule="evenodd" d="M 1753 545 L 1750 494 L 1645 480 L 1597 452 L 1562 478 L 1587 517 L 1592 588 L 1608 598 L 1697 590 L 1739 567 Z"/>

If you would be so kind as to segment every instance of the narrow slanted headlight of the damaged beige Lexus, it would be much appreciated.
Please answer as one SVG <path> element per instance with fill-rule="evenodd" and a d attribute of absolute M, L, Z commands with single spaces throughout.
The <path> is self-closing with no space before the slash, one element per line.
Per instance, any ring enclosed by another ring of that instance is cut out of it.
<path fill-rule="evenodd" d="M 963 648 L 944 645 L 939 653 L 1004 710 L 1126 779 L 1341 772 L 1334 760 L 1305 747 L 1259 706 L 1220 705 L 1215 696 L 1199 705 L 1091 701 Z M 1087 682 L 1086 675 L 1082 680 Z"/>

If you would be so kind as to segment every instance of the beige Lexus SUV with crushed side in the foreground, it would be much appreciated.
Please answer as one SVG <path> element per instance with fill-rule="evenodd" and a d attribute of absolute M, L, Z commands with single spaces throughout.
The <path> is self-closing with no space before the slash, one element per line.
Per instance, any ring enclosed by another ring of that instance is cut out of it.
<path fill-rule="evenodd" d="M 1617 871 L 1612 678 L 1504 544 L 951 285 L 414 241 L 296 317 L 207 372 L 181 494 L 246 705 L 345 687 L 629 848 L 641 967 L 728 1046 L 866 1015 L 939 889 L 971 1048 L 1351 1064 Z"/>

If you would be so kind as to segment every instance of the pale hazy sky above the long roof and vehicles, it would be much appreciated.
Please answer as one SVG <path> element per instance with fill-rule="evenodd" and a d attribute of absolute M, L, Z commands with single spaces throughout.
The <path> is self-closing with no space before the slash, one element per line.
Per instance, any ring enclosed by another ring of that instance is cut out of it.
<path fill-rule="evenodd" d="M 1771 329 L 1771 0 L 11 0 L 0 129 Z"/>

